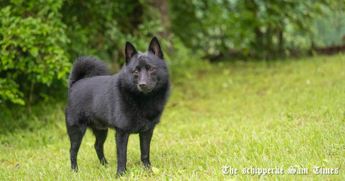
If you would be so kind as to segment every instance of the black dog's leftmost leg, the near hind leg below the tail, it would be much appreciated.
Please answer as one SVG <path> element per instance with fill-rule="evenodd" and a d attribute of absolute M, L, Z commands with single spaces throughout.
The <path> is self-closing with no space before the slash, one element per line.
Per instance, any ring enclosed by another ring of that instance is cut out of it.
<path fill-rule="evenodd" d="M 72 170 L 77 171 L 77 155 L 80 147 L 80 143 L 83 139 L 83 136 L 86 131 L 85 124 L 75 124 L 67 126 L 67 132 L 69 135 L 69 139 L 71 141 L 71 149 L 69 150 L 71 154 L 71 167 Z"/>

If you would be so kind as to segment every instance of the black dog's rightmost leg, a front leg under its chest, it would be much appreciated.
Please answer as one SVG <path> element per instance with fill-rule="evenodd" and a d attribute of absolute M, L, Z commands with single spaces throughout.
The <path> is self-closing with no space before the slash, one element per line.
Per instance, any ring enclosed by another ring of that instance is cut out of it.
<path fill-rule="evenodd" d="M 147 169 L 150 169 L 150 142 L 153 134 L 153 129 L 146 132 L 139 133 L 141 161 Z"/>

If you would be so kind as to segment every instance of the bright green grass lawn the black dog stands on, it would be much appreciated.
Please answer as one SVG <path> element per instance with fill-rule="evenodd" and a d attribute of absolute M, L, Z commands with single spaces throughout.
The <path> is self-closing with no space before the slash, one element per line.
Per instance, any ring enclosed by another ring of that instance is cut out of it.
<path fill-rule="evenodd" d="M 151 141 L 158 172 L 144 169 L 138 135 L 131 135 L 128 174 L 119 180 L 345 180 L 345 56 L 204 66 L 180 67 L 186 76 L 172 81 Z M 54 125 L 0 135 L 0 179 L 115 180 L 114 131 L 105 143 L 109 165 L 99 163 L 88 130 L 79 172 L 71 172 L 63 107 L 42 108 Z M 222 174 L 225 165 L 239 173 Z M 339 174 L 314 174 L 315 165 Z M 242 174 L 252 166 L 284 174 Z M 287 174 L 290 166 L 309 174 Z"/>

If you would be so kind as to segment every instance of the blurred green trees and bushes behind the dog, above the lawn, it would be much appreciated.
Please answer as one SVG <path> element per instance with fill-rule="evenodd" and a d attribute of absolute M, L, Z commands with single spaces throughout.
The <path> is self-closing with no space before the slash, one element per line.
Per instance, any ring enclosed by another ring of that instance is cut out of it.
<path fill-rule="evenodd" d="M 344 0 L 0 0 L 0 8 L 0 133 L 33 130 L 42 107 L 63 105 L 76 57 L 118 72 L 126 41 L 145 52 L 157 36 L 173 83 L 214 62 L 345 50 Z"/>

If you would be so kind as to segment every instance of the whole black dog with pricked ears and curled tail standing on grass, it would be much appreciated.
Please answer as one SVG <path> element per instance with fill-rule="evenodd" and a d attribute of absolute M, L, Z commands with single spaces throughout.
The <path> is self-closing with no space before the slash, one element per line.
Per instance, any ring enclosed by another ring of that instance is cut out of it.
<path fill-rule="evenodd" d="M 116 130 L 117 176 L 126 171 L 129 134 L 139 133 L 141 161 L 150 167 L 152 133 L 169 97 L 168 68 L 156 37 L 145 53 L 127 41 L 125 53 L 125 66 L 113 76 L 107 76 L 102 61 L 90 56 L 73 64 L 65 110 L 73 170 L 78 169 L 77 154 L 86 128 L 96 136 L 95 149 L 103 165 L 108 164 L 103 154 L 108 128 Z"/>

